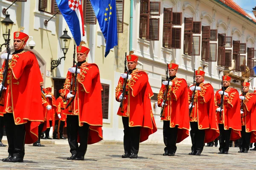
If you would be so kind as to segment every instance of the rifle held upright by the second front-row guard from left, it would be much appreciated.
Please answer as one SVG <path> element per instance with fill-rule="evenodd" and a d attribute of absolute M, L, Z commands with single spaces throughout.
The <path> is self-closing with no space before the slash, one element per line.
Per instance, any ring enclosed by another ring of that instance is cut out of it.
<path fill-rule="evenodd" d="M 66 109 L 70 106 L 70 108 L 68 109 L 69 112 L 72 112 L 72 102 L 73 100 L 75 99 L 76 97 L 76 77 L 77 77 L 77 69 L 78 69 L 78 65 L 76 64 L 76 45 L 74 45 L 74 53 L 73 53 L 73 67 L 75 67 L 76 65 L 76 72 L 75 72 L 75 77 L 73 78 L 73 74 L 72 74 L 72 77 L 71 77 L 71 88 L 70 88 L 70 94 L 74 94 L 74 96 L 72 97 L 72 99 L 69 99 L 69 103 L 67 104 L 66 106 Z M 74 82 L 75 82 L 75 91 L 73 90 L 73 79 L 74 79 Z"/>

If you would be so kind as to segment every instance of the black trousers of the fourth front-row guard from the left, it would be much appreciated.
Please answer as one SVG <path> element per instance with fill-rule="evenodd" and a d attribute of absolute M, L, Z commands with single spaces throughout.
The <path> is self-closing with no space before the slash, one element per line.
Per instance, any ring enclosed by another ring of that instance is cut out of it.
<path fill-rule="evenodd" d="M 163 121 L 163 142 L 166 145 L 165 152 L 175 153 L 177 150 L 176 142 L 178 136 L 178 127 L 170 127 L 170 121 Z"/>

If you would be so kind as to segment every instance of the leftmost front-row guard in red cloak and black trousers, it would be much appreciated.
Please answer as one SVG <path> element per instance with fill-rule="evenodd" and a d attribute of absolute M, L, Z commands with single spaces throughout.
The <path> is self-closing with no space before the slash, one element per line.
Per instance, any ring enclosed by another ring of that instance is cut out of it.
<path fill-rule="evenodd" d="M 22 162 L 24 145 L 38 140 L 38 125 L 44 122 L 40 82 L 43 82 L 38 60 L 32 51 L 24 51 L 27 34 L 14 32 L 15 52 L 9 55 L 7 82 L 2 84 L 6 60 L 0 71 L 0 86 L 4 86 L 0 113 L 4 115 L 9 156 L 2 161 Z M 7 53 L 1 55 L 7 59 Z"/>

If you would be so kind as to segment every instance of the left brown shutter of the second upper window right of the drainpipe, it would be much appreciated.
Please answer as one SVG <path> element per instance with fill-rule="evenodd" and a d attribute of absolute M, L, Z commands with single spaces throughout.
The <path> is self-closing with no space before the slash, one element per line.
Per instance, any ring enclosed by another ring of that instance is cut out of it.
<path fill-rule="evenodd" d="M 172 8 L 163 9 L 163 47 L 172 46 Z"/>

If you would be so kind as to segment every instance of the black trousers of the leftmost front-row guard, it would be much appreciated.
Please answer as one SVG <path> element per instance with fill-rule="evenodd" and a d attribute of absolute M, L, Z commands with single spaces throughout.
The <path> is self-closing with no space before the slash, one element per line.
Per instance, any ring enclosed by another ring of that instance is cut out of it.
<path fill-rule="evenodd" d="M 4 125 L 9 145 L 9 155 L 23 159 L 25 155 L 25 125 L 15 125 L 12 113 L 4 114 Z"/>

